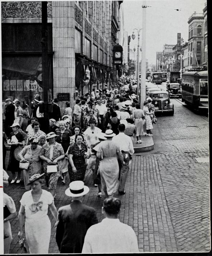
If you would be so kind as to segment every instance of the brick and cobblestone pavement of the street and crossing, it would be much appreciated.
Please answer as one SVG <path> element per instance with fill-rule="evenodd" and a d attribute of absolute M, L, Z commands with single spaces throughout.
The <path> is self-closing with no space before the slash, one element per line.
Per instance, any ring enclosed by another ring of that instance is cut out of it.
<path fill-rule="evenodd" d="M 198 163 L 196 157 L 208 157 L 208 122 L 176 100 L 174 116 L 158 117 L 154 125 L 155 149 L 133 156 L 122 202 L 120 221 L 134 229 L 140 252 L 207 252 L 209 237 L 209 163 Z M 197 126 L 197 127 L 190 127 Z M 9 173 L 10 174 L 10 173 Z M 69 203 L 67 186 L 58 183 L 55 205 Z M 97 210 L 102 220 L 104 199 L 97 197 L 91 172 L 85 184 L 90 192 L 83 202 Z M 19 210 L 24 193 L 23 183 L 6 189 Z M 49 253 L 58 253 L 52 223 Z M 17 234 L 18 221 L 11 222 L 14 240 L 10 253 L 22 253 Z"/>

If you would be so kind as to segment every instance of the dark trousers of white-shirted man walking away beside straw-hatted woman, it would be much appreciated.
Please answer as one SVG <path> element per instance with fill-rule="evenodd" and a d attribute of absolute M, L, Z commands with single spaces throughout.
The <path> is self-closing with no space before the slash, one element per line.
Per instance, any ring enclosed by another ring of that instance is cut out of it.
<path fill-rule="evenodd" d="M 129 170 L 130 158 L 129 158 L 129 152 L 121 151 L 121 153 L 123 154 L 125 165 L 122 165 L 121 162 L 119 161 L 119 189 L 118 190 L 124 192 L 126 177 Z"/>

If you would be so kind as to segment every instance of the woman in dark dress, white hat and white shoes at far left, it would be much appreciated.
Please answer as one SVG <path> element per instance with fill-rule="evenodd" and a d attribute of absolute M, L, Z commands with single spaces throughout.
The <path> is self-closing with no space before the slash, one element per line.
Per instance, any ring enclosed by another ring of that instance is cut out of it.
<path fill-rule="evenodd" d="M 20 174 L 21 169 L 19 168 L 19 160 L 15 157 L 15 150 L 20 147 L 24 146 L 24 135 L 20 132 L 20 125 L 19 123 L 13 123 L 13 125 L 10 126 L 13 129 L 13 132 L 10 133 L 9 139 L 8 139 L 8 145 L 11 146 L 10 148 L 10 158 L 9 158 L 9 165 L 8 165 L 8 171 L 11 171 L 13 175 L 13 180 L 11 183 L 20 182 Z M 18 177 L 15 176 L 15 172 L 18 172 Z"/>

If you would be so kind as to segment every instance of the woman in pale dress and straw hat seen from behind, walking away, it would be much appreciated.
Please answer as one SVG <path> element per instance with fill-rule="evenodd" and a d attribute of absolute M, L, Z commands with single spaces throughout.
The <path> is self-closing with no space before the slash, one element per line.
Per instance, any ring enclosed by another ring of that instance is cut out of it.
<path fill-rule="evenodd" d="M 120 148 L 112 142 L 115 133 L 109 129 L 106 130 L 104 136 L 107 140 L 101 142 L 93 149 L 97 151 L 96 156 L 101 159 L 99 172 L 102 189 L 106 196 L 112 196 L 119 187 L 119 164 L 117 157 L 123 165 L 125 163 Z"/>

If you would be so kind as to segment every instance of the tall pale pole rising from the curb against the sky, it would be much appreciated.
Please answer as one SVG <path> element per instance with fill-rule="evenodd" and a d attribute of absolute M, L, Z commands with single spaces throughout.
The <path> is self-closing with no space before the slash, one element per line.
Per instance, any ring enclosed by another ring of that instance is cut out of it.
<path fill-rule="evenodd" d="M 146 100 L 146 1 L 143 1 L 142 12 L 142 52 L 141 52 L 141 85 L 140 85 L 140 108 Z"/>

